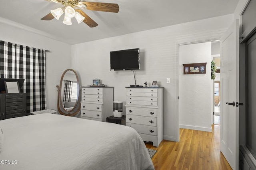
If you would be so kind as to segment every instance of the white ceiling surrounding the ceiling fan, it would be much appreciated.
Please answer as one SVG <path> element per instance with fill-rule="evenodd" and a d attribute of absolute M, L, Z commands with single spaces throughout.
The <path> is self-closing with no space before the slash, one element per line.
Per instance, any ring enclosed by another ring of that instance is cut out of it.
<path fill-rule="evenodd" d="M 85 1 L 85 0 L 81 0 Z M 77 44 L 233 14 L 238 0 L 88 0 L 89 2 L 116 3 L 119 12 L 83 10 L 98 26 L 90 28 L 72 18 L 72 25 L 55 18 L 40 20 L 61 4 L 46 0 L 1 0 L 0 22 L 10 23 L 43 36 Z"/>

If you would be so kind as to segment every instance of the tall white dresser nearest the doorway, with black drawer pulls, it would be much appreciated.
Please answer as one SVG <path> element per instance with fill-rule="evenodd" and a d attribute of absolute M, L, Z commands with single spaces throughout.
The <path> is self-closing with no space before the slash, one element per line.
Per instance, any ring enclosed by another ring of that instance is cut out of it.
<path fill-rule="evenodd" d="M 163 91 L 156 87 L 126 87 L 126 126 L 156 147 L 164 136 Z"/>

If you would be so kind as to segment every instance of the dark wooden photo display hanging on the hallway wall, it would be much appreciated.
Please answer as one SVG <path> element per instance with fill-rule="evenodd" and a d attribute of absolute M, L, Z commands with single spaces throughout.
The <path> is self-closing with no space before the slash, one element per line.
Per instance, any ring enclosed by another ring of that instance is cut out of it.
<path fill-rule="evenodd" d="M 183 74 L 205 74 L 206 63 L 183 64 Z"/>

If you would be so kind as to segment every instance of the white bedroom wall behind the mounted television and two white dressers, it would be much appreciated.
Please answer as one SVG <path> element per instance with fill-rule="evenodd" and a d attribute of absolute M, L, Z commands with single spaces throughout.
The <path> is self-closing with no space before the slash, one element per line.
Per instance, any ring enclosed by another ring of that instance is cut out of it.
<path fill-rule="evenodd" d="M 178 43 L 220 39 L 232 22 L 233 15 L 226 15 L 72 45 L 72 67 L 79 72 L 82 85 L 101 79 L 114 87 L 114 100 L 126 104 L 125 87 L 134 84 L 133 73 L 110 71 L 109 55 L 110 51 L 139 47 L 141 69 L 136 71 L 137 84 L 147 81 L 150 86 L 157 80 L 164 87 L 164 138 L 178 141 Z"/>

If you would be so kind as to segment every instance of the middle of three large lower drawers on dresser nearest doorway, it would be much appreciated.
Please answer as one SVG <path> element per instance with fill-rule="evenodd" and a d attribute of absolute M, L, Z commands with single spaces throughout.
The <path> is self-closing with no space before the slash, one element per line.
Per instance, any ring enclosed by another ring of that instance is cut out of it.
<path fill-rule="evenodd" d="M 137 115 L 126 115 L 126 123 L 136 123 L 156 127 L 156 117 L 145 117 Z"/>

